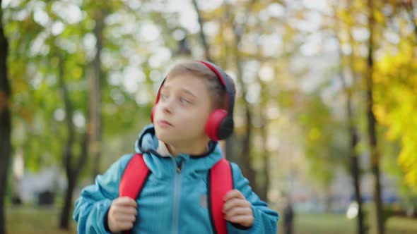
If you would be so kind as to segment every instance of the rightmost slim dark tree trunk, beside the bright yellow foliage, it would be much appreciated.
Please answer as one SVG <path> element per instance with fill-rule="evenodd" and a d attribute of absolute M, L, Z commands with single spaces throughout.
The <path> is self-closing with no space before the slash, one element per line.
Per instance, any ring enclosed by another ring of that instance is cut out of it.
<path fill-rule="evenodd" d="M 375 212 L 377 222 L 377 233 L 384 234 L 384 220 L 382 217 L 382 199 L 381 199 L 381 183 L 380 183 L 380 154 L 377 149 L 377 133 L 376 125 L 377 121 L 372 111 L 373 97 L 372 97 L 372 74 L 373 74 L 373 25 L 375 22 L 373 14 L 372 0 L 368 0 L 368 30 L 370 32 L 368 42 L 368 74 L 366 78 L 366 110 L 368 118 L 368 135 L 370 142 L 370 155 L 371 155 L 371 171 L 374 178 L 374 200 L 375 200 Z"/>

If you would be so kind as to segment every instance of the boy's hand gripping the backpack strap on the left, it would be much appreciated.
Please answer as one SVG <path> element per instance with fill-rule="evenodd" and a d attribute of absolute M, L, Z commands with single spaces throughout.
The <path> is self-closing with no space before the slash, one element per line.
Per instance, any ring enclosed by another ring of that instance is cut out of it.
<path fill-rule="evenodd" d="M 118 197 L 113 200 L 107 216 L 107 223 L 112 233 L 133 228 L 136 219 L 136 201 L 130 197 Z"/>

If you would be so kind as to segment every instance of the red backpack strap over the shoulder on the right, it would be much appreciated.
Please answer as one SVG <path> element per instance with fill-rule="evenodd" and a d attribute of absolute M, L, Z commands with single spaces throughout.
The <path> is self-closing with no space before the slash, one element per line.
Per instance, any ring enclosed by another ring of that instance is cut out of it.
<path fill-rule="evenodd" d="M 227 192 L 233 190 L 233 170 L 232 165 L 226 160 L 221 159 L 209 171 L 208 181 L 208 202 L 211 227 L 213 233 L 226 234 L 226 220 L 223 214 L 223 197 Z"/>

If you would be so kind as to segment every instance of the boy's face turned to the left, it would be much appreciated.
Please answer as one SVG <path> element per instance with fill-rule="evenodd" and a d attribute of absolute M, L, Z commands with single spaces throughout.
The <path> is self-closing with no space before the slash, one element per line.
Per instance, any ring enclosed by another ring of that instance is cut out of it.
<path fill-rule="evenodd" d="M 156 136 L 172 145 L 209 140 L 204 128 L 210 113 L 209 90 L 204 80 L 192 74 L 168 77 L 155 106 Z"/>

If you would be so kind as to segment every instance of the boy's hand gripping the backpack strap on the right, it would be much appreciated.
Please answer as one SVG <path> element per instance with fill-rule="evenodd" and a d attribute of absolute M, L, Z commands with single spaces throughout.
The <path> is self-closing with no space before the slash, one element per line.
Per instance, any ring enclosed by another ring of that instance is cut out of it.
<path fill-rule="evenodd" d="M 241 226 L 250 227 L 254 222 L 252 205 L 239 190 L 232 190 L 226 193 L 223 213 L 225 220 Z"/>

